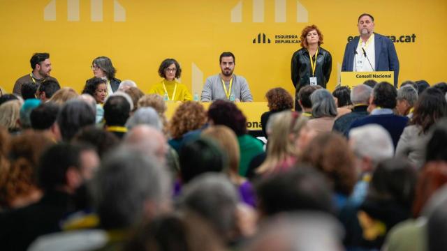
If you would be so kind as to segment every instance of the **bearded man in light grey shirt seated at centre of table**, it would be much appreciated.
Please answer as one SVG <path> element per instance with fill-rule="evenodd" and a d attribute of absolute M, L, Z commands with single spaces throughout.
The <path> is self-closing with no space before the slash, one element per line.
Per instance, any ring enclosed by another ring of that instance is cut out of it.
<path fill-rule="evenodd" d="M 223 52 L 220 56 L 221 73 L 208 77 L 203 86 L 200 101 L 230 100 L 235 102 L 252 102 L 253 97 L 247 80 L 233 74 L 235 55 Z"/>

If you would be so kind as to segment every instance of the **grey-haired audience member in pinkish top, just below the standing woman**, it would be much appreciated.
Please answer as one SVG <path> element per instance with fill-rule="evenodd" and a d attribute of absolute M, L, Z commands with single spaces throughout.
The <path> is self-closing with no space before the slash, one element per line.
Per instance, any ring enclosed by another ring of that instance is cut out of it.
<path fill-rule="evenodd" d="M 326 89 L 318 89 L 310 96 L 312 102 L 312 119 L 309 127 L 318 133 L 330 132 L 337 116 L 337 106 L 332 94 Z"/>

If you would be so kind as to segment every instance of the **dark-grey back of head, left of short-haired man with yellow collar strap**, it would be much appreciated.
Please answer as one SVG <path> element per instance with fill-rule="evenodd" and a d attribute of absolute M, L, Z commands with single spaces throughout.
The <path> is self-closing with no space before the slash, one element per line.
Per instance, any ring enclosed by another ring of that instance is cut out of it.
<path fill-rule="evenodd" d="M 62 107 L 57 124 L 62 138 L 69 141 L 81 128 L 94 125 L 96 111 L 82 100 L 70 100 Z"/>

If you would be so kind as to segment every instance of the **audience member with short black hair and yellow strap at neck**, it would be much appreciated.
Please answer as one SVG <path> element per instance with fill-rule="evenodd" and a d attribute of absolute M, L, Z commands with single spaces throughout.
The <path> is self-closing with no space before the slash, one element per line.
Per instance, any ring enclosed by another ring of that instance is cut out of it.
<path fill-rule="evenodd" d="M 113 132 L 119 139 L 126 134 L 127 119 L 131 112 L 131 103 L 122 96 L 110 96 L 104 104 L 105 130 Z"/>

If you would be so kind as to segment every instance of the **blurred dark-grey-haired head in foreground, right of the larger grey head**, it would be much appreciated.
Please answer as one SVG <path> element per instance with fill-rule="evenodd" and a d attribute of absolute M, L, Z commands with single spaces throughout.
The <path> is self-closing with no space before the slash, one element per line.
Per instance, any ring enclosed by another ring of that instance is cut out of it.
<path fill-rule="evenodd" d="M 210 222 L 220 236 L 236 228 L 236 207 L 240 201 L 233 183 L 224 174 L 202 174 L 185 186 L 180 197 L 180 208 L 192 211 Z"/>

